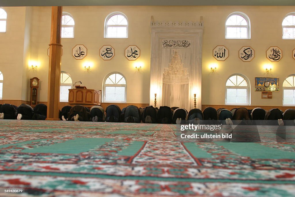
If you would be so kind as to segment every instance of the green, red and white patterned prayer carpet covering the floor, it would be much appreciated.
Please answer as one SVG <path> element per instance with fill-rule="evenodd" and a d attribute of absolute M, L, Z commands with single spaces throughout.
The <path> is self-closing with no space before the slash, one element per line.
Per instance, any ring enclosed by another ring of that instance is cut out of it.
<path fill-rule="evenodd" d="M 180 142 L 176 131 L 0 120 L 0 188 L 23 189 L 0 196 L 295 196 L 295 143 Z"/>

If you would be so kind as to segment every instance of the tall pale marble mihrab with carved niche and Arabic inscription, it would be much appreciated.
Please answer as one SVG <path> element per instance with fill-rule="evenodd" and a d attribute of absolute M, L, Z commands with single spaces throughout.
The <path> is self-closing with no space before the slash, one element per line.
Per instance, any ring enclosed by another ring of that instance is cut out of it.
<path fill-rule="evenodd" d="M 197 94 L 201 108 L 202 22 L 154 22 L 152 17 L 150 28 L 150 105 L 156 93 L 157 107 L 189 111 Z"/>

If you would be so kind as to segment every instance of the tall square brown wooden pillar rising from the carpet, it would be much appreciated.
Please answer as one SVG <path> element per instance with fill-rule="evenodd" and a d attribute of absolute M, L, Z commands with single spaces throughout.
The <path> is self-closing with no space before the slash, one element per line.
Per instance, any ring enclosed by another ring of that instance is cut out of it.
<path fill-rule="evenodd" d="M 60 64 L 61 64 L 61 17 L 63 7 L 53 6 L 49 44 L 49 73 L 46 120 L 59 119 Z"/>

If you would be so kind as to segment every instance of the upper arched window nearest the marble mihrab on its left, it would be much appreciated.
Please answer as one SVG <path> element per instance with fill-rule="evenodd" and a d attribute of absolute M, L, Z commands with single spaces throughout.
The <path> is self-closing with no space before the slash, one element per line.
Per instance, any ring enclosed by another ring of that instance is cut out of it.
<path fill-rule="evenodd" d="M 113 12 L 106 17 L 104 38 L 128 38 L 128 19 L 125 14 Z"/>

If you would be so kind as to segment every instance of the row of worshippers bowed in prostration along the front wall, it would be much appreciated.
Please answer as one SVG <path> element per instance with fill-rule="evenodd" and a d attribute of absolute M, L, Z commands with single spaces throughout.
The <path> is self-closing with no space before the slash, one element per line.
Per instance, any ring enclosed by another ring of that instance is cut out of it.
<path fill-rule="evenodd" d="M 38 104 L 33 109 L 30 105 L 22 104 L 18 107 L 10 104 L 0 106 L 0 119 L 17 120 L 45 120 L 47 115 L 47 106 Z M 203 111 L 192 109 L 189 112 L 186 109 L 178 107 L 161 106 L 154 108 L 148 106 L 138 108 L 135 105 L 129 105 L 122 110 L 117 105 L 109 105 L 106 110 L 101 106 L 86 108 L 82 105 L 65 106 L 60 111 L 60 120 L 68 121 L 93 121 L 93 122 L 128 122 L 128 123 L 199 123 L 199 121 L 217 121 L 219 123 L 231 125 L 232 121 L 277 121 L 278 125 L 284 125 L 283 120 L 295 119 L 295 109 L 288 109 L 285 112 L 279 109 L 264 110 L 255 108 L 248 110 L 246 108 L 234 108 L 227 110 L 220 108 L 216 110 L 207 107 Z M 251 122 L 252 124 L 253 122 Z M 256 122 L 258 123 L 258 122 Z"/>

